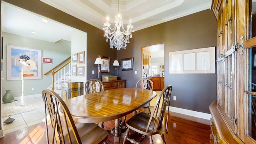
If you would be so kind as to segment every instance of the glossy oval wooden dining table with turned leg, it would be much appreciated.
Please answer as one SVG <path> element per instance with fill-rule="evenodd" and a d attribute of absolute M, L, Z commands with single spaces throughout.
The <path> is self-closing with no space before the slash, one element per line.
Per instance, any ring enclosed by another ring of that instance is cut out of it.
<path fill-rule="evenodd" d="M 115 120 L 114 144 L 119 144 L 119 118 L 134 112 L 156 95 L 152 90 L 118 88 L 77 96 L 65 103 L 76 122 L 98 123 Z"/>

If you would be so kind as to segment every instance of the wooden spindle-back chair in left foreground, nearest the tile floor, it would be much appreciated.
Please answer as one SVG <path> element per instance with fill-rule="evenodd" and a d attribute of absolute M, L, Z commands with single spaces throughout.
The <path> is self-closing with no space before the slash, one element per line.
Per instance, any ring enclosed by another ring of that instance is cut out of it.
<path fill-rule="evenodd" d="M 42 98 L 46 110 L 50 115 L 52 126 L 52 139 L 51 144 L 56 141 L 57 144 L 107 144 L 108 132 L 100 128 L 97 124 L 75 124 L 68 107 L 62 98 L 52 90 L 43 90 Z M 63 116 L 60 116 L 60 110 Z M 49 143 L 49 132 L 47 119 L 46 123 L 46 139 Z"/>

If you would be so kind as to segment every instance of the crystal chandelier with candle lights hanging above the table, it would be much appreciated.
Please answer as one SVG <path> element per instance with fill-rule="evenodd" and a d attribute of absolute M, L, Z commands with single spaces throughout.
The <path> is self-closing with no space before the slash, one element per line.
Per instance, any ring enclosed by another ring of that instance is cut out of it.
<path fill-rule="evenodd" d="M 118 15 L 115 16 L 115 26 L 114 28 L 110 28 L 110 23 L 108 23 L 108 16 L 107 16 L 107 22 L 104 22 L 103 24 L 103 30 L 104 30 L 104 37 L 106 37 L 106 42 L 108 42 L 109 39 L 109 45 L 110 48 L 116 48 L 117 50 L 120 50 L 120 48 L 126 49 L 127 43 L 130 43 L 129 39 L 132 38 L 132 32 L 133 30 L 133 25 L 131 24 L 131 19 L 130 19 L 130 24 L 127 25 L 127 30 L 124 30 L 123 26 L 123 20 L 122 16 L 119 14 L 119 0 L 118 0 Z M 122 28 L 122 32 L 120 30 Z M 113 32 L 111 32 L 112 30 Z"/>

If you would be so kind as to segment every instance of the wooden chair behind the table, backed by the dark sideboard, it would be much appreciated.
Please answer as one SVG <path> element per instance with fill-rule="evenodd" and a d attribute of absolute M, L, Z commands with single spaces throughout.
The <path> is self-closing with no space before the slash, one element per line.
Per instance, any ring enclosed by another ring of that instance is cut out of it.
<path fill-rule="evenodd" d="M 104 86 L 101 80 L 98 80 L 98 79 L 87 80 L 85 82 L 84 88 L 85 88 L 85 94 L 104 91 Z"/>

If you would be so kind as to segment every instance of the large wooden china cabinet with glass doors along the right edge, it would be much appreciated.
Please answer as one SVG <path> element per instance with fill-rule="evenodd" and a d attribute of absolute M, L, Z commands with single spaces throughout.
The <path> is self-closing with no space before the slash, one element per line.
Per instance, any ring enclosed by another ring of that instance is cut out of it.
<path fill-rule="evenodd" d="M 256 92 L 252 89 L 256 82 L 255 3 L 212 1 L 218 21 L 218 46 L 217 100 L 209 106 L 211 144 L 256 143 Z"/>

